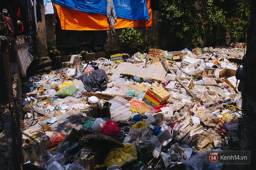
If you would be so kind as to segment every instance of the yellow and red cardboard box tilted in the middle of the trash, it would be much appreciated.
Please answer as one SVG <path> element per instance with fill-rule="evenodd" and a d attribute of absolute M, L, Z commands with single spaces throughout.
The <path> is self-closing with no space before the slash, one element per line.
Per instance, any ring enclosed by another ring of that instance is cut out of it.
<path fill-rule="evenodd" d="M 170 97 L 170 93 L 159 86 L 149 88 L 143 101 L 151 106 L 159 106 L 166 103 Z"/>

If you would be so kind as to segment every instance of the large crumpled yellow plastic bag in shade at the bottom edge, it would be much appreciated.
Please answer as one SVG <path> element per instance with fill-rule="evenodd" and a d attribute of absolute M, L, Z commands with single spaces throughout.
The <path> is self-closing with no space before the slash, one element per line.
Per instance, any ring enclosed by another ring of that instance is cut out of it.
<path fill-rule="evenodd" d="M 125 143 L 124 148 L 112 148 L 104 163 L 96 165 L 95 168 L 111 167 L 112 165 L 122 167 L 135 160 L 137 160 L 137 150 L 135 145 L 133 143 Z"/>

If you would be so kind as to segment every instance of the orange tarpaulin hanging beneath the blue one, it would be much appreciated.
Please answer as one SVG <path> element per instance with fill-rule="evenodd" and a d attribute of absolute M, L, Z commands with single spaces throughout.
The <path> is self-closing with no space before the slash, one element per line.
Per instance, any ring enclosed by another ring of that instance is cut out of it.
<path fill-rule="evenodd" d="M 55 7 L 61 21 L 61 29 L 79 31 L 110 29 L 106 15 L 82 12 L 57 4 L 55 4 Z M 152 10 L 150 9 L 150 0 L 147 1 L 147 8 L 149 11 L 149 20 L 133 21 L 118 17 L 115 28 L 152 27 Z"/>

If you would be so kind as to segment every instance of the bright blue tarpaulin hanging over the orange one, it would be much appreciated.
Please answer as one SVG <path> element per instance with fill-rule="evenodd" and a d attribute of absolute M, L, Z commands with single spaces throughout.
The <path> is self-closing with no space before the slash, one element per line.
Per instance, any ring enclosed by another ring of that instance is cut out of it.
<path fill-rule="evenodd" d="M 52 0 L 53 3 L 88 13 L 107 15 L 107 0 Z M 124 19 L 149 20 L 147 0 L 113 0 L 116 16 Z"/>

